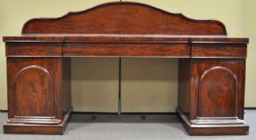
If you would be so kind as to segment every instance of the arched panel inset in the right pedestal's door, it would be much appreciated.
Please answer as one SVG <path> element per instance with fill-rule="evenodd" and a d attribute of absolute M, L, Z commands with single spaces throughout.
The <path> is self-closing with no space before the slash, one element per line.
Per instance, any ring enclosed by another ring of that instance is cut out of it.
<path fill-rule="evenodd" d="M 200 66 L 199 117 L 237 117 L 238 79 L 223 66 Z"/>

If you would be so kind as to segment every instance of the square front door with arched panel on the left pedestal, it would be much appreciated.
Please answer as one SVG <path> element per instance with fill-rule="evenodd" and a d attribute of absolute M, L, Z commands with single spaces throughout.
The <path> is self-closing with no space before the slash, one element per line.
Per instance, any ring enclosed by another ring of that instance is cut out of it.
<path fill-rule="evenodd" d="M 59 58 L 7 58 L 9 118 L 56 117 Z"/>

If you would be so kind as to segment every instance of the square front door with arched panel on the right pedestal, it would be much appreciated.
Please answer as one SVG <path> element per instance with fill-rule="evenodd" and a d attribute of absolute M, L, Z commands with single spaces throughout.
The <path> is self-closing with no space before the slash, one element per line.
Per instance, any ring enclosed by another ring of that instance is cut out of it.
<path fill-rule="evenodd" d="M 243 118 L 243 59 L 199 61 L 198 117 Z"/>

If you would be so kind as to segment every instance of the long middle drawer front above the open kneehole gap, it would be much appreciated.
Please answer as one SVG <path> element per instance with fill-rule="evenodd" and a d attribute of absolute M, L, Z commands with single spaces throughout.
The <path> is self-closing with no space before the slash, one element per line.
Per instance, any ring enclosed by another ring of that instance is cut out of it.
<path fill-rule="evenodd" d="M 181 57 L 188 58 L 188 44 L 180 43 L 65 43 L 65 57 Z"/>

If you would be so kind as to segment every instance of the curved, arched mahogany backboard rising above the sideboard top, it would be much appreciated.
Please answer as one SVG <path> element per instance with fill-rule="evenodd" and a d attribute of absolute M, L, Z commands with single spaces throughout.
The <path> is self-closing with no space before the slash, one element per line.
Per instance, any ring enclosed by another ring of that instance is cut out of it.
<path fill-rule="evenodd" d="M 221 22 L 194 20 L 141 3 L 109 2 L 60 18 L 31 19 L 22 34 L 226 35 L 226 27 Z"/>

